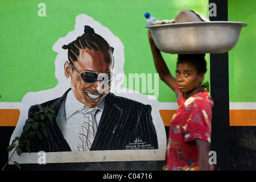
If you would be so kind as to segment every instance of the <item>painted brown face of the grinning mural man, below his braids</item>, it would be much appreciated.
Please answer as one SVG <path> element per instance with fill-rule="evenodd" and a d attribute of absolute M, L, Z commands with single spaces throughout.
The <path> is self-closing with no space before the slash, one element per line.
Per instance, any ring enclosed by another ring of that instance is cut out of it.
<path fill-rule="evenodd" d="M 66 62 L 65 64 L 69 64 Z M 100 52 L 89 49 L 80 49 L 80 55 L 73 66 L 79 73 L 95 72 L 110 73 L 113 68 L 113 56 L 110 51 Z M 70 64 L 69 64 L 70 67 Z M 71 68 L 71 67 L 70 67 Z M 66 72 L 65 68 L 65 72 Z M 88 84 L 82 81 L 81 77 L 72 68 L 69 69 L 71 76 L 71 89 L 76 99 L 88 107 L 96 107 L 102 99 L 109 93 L 111 85 L 104 85 L 101 80 Z"/>

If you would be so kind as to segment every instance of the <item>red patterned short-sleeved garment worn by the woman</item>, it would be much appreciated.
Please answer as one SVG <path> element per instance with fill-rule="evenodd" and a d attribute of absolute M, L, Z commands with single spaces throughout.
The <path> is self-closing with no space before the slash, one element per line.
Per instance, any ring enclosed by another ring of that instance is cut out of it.
<path fill-rule="evenodd" d="M 170 122 L 167 141 L 166 164 L 163 170 L 198 170 L 198 149 L 195 139 L 210 143 L 210 122 L 213 101 L 207 90 L 189 97 L 184 102 L 184 94 L 175 86 L 179 109 Z"/>

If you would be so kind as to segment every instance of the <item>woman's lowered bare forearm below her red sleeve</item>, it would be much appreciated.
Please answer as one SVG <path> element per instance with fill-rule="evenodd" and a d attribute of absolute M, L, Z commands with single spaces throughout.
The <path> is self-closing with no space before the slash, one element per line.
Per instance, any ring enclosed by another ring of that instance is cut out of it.
<path fill-rule="evenodd" d="M 200 171 L 209 171 L 210 164 L 209 164 L 209 143 L 207 140 L 203 139 L 196 139 L 196 146 L 199 151 L 198 156 L 198 164 Z"/>

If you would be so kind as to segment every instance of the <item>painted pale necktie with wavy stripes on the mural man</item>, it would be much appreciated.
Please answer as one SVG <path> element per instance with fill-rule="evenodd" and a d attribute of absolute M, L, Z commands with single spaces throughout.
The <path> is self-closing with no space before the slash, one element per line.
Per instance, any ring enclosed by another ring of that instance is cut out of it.
<path fill-rule="evenodd" d="M 89 151 L 92 146 L 94 137 L 97 132 L 97 125 L 94 115 L 96 108 L 84 107 L 80 112 L 84 115 L 84 121 L 82 122 L 77 147 L 79 151 Z"/>

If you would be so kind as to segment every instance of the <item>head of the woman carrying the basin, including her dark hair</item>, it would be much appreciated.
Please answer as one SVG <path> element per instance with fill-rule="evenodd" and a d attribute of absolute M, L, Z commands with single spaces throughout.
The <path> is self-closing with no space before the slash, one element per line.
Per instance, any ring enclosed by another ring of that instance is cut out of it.
<path fill-rule="evenodd" d="M 201 90 L 201 82 L 207 71 L 205 54 L 178 55 L 176 81 L 180 92 L 192 96 Z"/>

